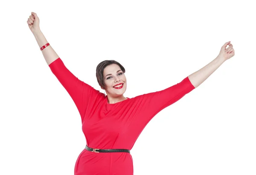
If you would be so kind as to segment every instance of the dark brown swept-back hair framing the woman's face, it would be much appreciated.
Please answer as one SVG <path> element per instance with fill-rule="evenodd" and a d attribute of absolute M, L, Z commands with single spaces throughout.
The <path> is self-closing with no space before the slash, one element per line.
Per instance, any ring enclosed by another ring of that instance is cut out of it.
<path fill-rule="evenodd" d="M 100 62 L 96 68 L 96 77 L 97 77 L 97 81 L 98 81 L 100 87 L 102 87 L 103 89 L 106 88 L 105 83 L 104 83 L 103 71 L 104 71 L 105 67 L 107 67 L 108 65 L 112 65 L 112 64 L 119 65 L 120 69 L 123 71 L 123 73 L 125 73 L 125 68 L 119 62 L 117 62 L 115 60 L 105 60 L 105 61 Z"/>

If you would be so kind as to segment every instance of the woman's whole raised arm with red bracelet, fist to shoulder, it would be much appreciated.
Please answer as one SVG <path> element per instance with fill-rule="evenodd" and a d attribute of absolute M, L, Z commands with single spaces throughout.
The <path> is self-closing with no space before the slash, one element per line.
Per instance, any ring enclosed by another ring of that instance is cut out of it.
<path fill-rule="evenodd" d="M 32 12 L 27 23 L 35 36 L 39 48 L 47 44 L 48 42 L 39 28 L 39 18 L 35 13 Z M 42 53 L 52 73 L 56 76 L 58 81 L 63 85 L 75 102 L 81 116 L 81 121 L 83 122 L 88 103 L 93 103 L 95 100 L 101 98 L 102 93 L 74 76 L 73 73 L 66 68 L 51 45 L 44 48 Z"/>

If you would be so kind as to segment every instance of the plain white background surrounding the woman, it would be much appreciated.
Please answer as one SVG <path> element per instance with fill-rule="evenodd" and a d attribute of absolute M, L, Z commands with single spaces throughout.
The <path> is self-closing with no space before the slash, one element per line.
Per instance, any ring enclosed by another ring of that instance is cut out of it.
<path fill-rule="evenodd" d="M 96 66 L 126 69 L 125 97 L 163 90 L 231 41 L 235 56 L 158 113 L 131 150 L 134 175 L 255 175 L 253 1 L 8 1 L 0 6 L 0 174 L 73 175 L 79 112 L 26 23 L 32 11 L 67 68 L 100 90 Z"/>

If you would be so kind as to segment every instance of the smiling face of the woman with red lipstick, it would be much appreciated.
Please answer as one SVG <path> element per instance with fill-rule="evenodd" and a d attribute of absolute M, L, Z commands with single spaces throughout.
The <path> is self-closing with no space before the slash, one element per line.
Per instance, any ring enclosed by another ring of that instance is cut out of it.
<path fill-rule="evenodd" d="M 108 96 L 117 97 L 125 93 L 126 77 L 119 65 L 112 64 L 105 67 L 103 78 L 106 87 L 105 91 L 106 93 L 108 92 Z"/>

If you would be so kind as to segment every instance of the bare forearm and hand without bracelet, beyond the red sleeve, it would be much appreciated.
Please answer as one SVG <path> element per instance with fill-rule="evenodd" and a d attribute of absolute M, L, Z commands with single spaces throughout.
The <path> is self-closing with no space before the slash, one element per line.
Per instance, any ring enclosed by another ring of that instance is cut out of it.
<path fill-rule="evenodd" d="M 226 49 L 227 45 L 229 47 Z M 235 51 L 233 49 L 233 45 L 229 42 L 226 42 L 222 47 L 218 56 L 212 60 L 208 65 L 204 66 L 200 70 L 196 71 L 189 75 L 189 80 L 192 85 L 197 88 L 202 84 L 218 67 L 222 65 L 227 59 L 230 59 L 235 55 Z"/>

